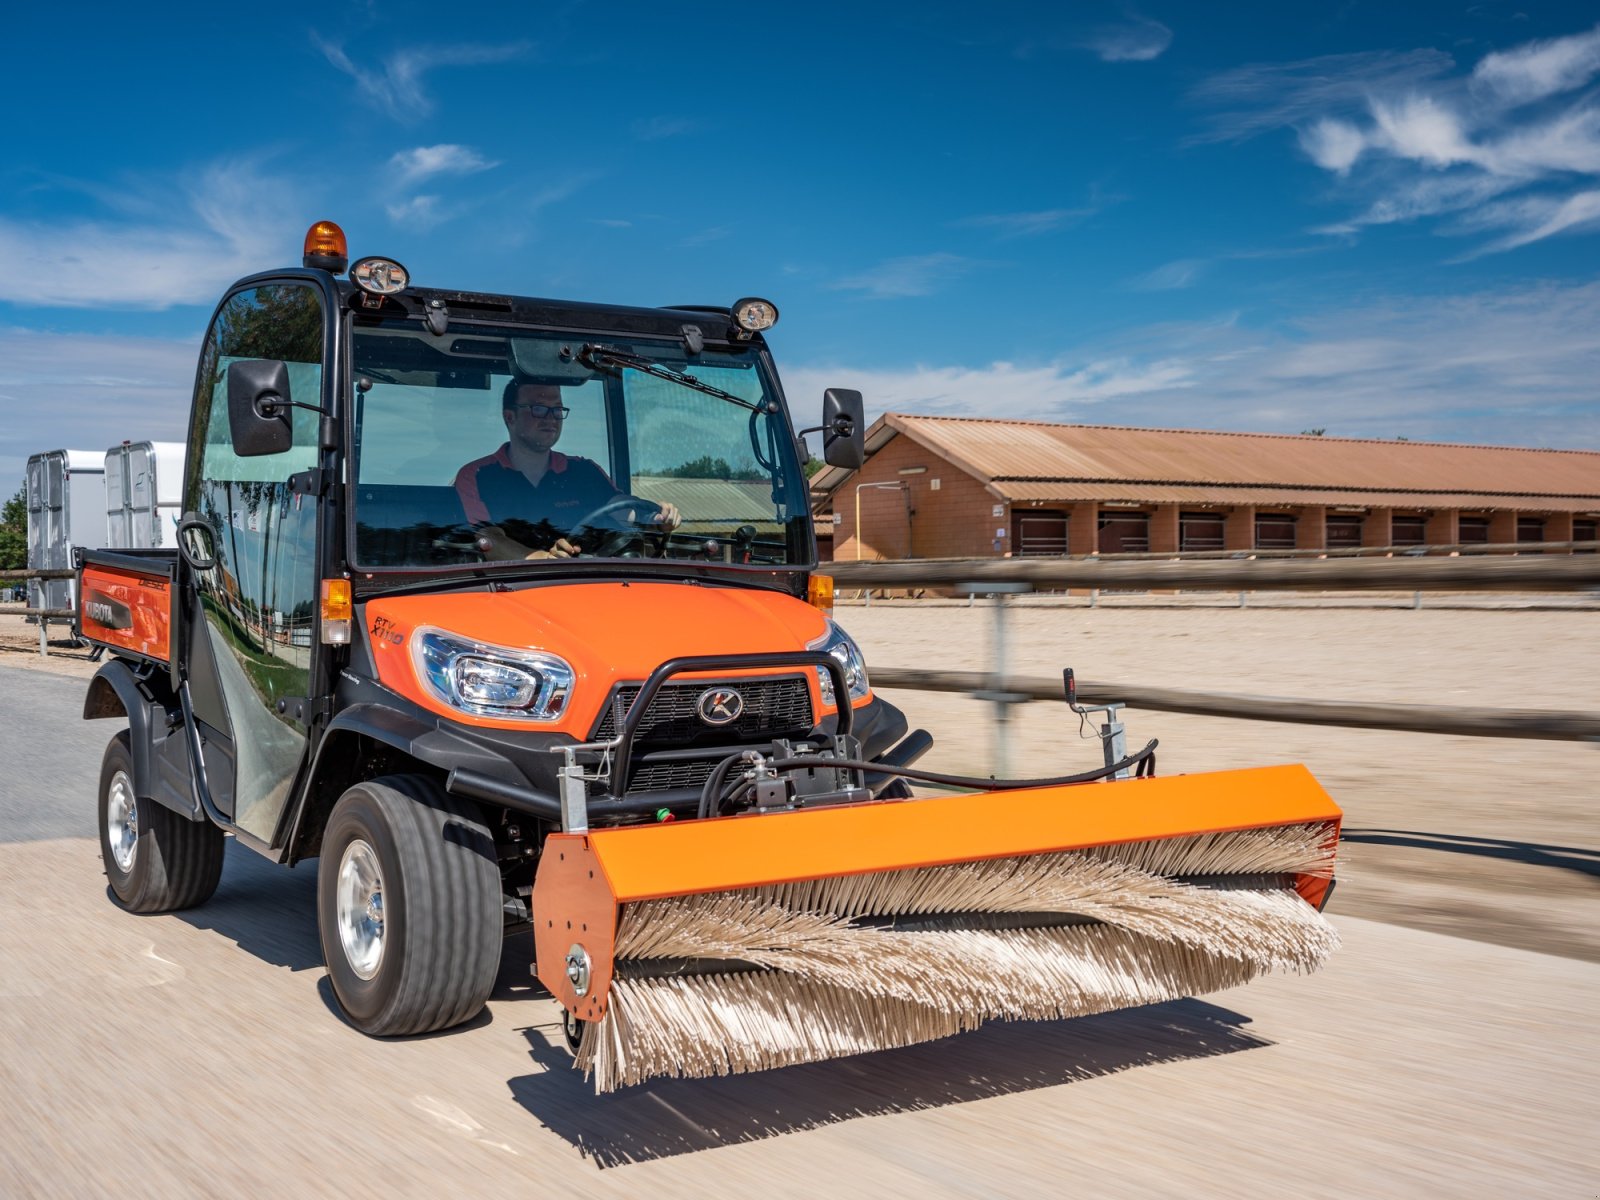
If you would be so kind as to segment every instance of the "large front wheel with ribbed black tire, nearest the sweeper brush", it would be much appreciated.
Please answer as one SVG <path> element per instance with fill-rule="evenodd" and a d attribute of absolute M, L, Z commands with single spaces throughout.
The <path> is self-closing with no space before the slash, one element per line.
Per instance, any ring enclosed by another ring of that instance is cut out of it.
<path fill-rule="evenodd" d="M 317 925 L 334 997 L 363 1034 L 427 1034 L 477 1016 L 504 925 L 477 805 L 424 776 L 355 784 L 322 837 Z"/>

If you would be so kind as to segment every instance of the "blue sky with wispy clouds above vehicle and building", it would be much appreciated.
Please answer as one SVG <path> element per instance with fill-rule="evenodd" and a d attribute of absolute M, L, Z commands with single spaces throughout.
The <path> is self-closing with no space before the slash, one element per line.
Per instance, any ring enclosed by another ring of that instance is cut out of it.
<path fill-rule="evenodd" d="M 1600 448 L 1592 5 L 14 8 L 0 491 L 179 440 L 310 221 L 419 283 L 774 299 L 802 416 Z"/>

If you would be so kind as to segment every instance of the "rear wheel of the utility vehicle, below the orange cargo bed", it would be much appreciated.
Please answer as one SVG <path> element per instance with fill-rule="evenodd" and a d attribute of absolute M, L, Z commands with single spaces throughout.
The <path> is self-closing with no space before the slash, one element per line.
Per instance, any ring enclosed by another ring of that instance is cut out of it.
<path fill-rule="evenodd" d="M 128 912 L 174 912 L 211 899 L 222 878 L 222 830 L 134 795 L 126 730 L 101 762 L 101 861 L 112 894 Z"/>

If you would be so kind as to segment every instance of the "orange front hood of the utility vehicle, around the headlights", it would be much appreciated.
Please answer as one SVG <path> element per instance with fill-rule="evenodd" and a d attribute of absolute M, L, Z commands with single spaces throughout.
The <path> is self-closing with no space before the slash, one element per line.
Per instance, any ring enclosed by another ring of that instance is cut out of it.
<path fill-rule="evenodd" d="M 466 725 L 538 728 L 574 738 L 587 736 L 614 683 L 645 680 L 667 659 L 805 650 L 826 630 L 822 614 L 792 595 L 677 582 L 555 584 L 518 592 L 394 597 L 371 600 L 365 622 L 378 677 L 402 696 Z M 411 661 L 410 638 L 419 626 L 560 654 L 576 674 L 571 704 L 560 722 L 538 725 L 477 717 L 443 704 L 418 678 Z M 733 674 L 794 672 L 789 667 Z M 728 674 L 715 672 L 715 677 Z M 822 706 L 814 674 L 808 677 L 813 712 L 832 712 Z M 867 699 L 870 696 L 856 704 Z"/>

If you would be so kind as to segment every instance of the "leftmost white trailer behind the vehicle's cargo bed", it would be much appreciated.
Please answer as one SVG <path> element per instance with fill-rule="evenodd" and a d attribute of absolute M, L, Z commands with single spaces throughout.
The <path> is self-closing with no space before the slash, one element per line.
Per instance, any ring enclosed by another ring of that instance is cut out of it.
<path fill-rule="evenodd" d="M 46 450 L 27 461 L 27 570 L 69 571 L 77 546 L 106 544 L 106 454 Z M 77 608 L 75 579 L 29 579 L 29 608 Z M 66 621 L 67 618 L 50 618 Z"/>

